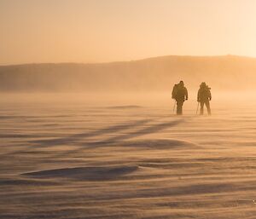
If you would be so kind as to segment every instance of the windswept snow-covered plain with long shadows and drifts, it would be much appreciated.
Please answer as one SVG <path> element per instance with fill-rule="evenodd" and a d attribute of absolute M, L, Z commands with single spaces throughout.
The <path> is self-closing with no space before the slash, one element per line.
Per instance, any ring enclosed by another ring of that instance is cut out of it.
<path fill-rule="evenodd" d="M 2 99 L 0 218 L 256 218 L 255 104 L 67 102 Z"/>

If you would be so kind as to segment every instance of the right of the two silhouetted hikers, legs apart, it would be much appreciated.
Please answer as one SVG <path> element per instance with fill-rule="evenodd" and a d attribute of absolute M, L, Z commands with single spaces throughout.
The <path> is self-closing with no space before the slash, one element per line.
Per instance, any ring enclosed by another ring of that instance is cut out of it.
<path fill-rule="evenodd" d="M 200 102 L 200 114 L 204 114 L 204 105 L 207 106 L 208 115 L 211 115 L 210 101 L 212 100 L 211 88 L 205 82 L 202 82 L 197 93 L 197 101 Z"/>

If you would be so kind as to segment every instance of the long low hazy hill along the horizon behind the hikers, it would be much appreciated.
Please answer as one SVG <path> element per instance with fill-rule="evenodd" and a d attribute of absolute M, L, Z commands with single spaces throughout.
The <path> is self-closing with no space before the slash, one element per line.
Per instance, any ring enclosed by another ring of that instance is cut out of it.
<path fill-rule="evenodd" d="M 0 91 L 164 91 L 183 79 L 190 89 L 255 89 L 256 59 L 241 56 L 163 56 L 102 64 L 0 66 Z"/>

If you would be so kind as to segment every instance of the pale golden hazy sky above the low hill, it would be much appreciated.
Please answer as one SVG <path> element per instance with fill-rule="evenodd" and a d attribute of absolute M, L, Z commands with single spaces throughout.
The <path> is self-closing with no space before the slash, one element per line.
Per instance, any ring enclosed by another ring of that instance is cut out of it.
<path fill-rule="evenodd" d="M 256 57 L 256 0 L 0 0 L 0 65 Z"/>

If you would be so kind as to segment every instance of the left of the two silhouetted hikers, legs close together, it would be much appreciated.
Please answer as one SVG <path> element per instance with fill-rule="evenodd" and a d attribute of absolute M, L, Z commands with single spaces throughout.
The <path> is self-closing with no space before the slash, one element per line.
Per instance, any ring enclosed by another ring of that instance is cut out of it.
<path fill-rule="evenodd" d="M 185 88 L 183 81 L 175 84 L 172 89 L 172 99 L 177 103 L 177 115 L 183 114 L 183 102 L 188 100 L 188 90 Z"/>

